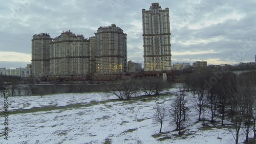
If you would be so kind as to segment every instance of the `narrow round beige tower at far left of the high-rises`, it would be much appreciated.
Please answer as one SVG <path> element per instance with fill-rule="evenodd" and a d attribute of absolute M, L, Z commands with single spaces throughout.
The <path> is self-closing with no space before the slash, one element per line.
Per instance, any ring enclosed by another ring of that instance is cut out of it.
<path fill-rule="evenodd" d="M 50 41 L 47 33 L 33 35 L 32 41 L 32 75 L 42 76 L 49 73 L 50 65 Z"/>

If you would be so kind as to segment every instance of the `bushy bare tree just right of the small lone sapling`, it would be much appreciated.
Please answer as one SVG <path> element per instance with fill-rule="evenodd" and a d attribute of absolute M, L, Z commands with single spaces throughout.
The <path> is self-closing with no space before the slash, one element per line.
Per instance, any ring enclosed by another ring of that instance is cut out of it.
<path fill-rule="evenodd" d="M 172 102 L 170 106 L 170 117 L 172 117 L 172 123 L 176 124 L 176 130 L 181 134 L 181 129 L 185 122 L 185 116 L 188 108 L 186 107 L 185 94 L 180 92 L 178 97 Z"/>

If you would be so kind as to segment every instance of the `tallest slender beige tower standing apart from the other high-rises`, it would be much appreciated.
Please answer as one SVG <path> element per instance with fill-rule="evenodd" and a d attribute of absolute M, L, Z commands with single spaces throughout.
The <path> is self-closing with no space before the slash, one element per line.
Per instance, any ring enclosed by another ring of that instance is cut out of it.
<path fill-rule="evenodd" d="M 152 3 L 142 9 L 144 71 L 172 70 L 169 9 Z"/>

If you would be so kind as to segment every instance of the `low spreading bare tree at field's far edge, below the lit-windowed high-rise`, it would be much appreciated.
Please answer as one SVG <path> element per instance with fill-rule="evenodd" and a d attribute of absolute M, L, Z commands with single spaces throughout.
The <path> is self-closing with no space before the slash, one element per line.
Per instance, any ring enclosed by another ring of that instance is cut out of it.
<path fill-rule="evenodd" d="M 121 81 L 116 85 L 108 89 L 108 94 L 114 94 L 119 99 L 129 100 L 133 95 L 139 91 L 139 84 L 136 80 Z"/>

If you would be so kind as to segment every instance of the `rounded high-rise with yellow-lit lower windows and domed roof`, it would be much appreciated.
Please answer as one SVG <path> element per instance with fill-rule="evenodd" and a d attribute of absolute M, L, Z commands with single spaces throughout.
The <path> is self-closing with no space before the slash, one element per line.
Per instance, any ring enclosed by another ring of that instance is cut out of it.
<path fill-rule="evenodd" d="M 127 35 L 115 24 L 95 33 L 95 73 L 122 74 L 127 69 Z"/>

